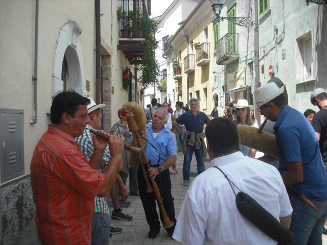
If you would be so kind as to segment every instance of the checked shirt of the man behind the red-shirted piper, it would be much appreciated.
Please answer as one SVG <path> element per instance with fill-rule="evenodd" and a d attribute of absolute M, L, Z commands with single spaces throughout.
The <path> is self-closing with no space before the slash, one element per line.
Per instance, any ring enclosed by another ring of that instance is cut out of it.
<path fill-rule="evenodd" d="M 84 129 L 83 135 L 76 138 L 76 141 L 80 144 L 82 153 L 84 157 L 87 158 L 87 161 L 89 161 L 94 153 L 94 146 L 93 146 L 93 134 L 89 131 L 92 127 L 89 125 L 86 125 Z M 109 145 L 107 146 L 106 150 L 104 151 L 101 165 L 99 168 L 99 173 L 102 174 L 104 169 L 106 168 L 108 162 L 110 159 L 110 152 L 109 152 Z M 110 210 L 106 201 L 106 198 L 95 198 L 95 205 L 98 209 L 99 213 L 106 213 L 110 214 Z"/>

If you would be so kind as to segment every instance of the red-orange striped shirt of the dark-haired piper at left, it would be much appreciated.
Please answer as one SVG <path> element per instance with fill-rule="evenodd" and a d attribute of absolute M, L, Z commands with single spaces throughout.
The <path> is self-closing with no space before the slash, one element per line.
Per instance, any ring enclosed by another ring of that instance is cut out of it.
<path fill-rule="evenodd" d="M 75 139 L 50 126 L 31 160 L 41 244 L 91 244 L 93 200 L 104 182 L 105 176 L 90 167 Z"/>

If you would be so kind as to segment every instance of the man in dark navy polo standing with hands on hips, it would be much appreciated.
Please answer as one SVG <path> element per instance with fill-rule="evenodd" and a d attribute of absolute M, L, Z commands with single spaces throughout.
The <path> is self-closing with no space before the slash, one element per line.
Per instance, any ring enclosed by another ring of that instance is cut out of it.
<path fill-rule="evenodd" d="M 174 128 L 180 135 L 184 135 L 182 151 L 184 154 L 183 162 L 183 186 L 188 186 L 190 181 L 190 166 L 193 152 L 198 166 L 198 175 L 204 171 L 204 159 L 206 157 L 206 147 L 204 143 L 204 124 L 209 122 L 206 114 L 199 111 L 197 99 L 190 100 L 191 110 L 182 114 L 173 122 Z M 179 125 L 185 125 L 186 131 L 182 132 Z"/>

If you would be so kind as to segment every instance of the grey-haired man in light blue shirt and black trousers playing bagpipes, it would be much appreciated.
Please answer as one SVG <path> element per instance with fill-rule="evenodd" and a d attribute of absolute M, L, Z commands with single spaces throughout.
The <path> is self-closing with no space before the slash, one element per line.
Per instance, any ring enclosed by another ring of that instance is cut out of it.
<path fill-rule="evenodd" d="M 172 227 L 166 228 L 166 231 L 172 237 L 176 225 L 176 218 L 169 167 L 176 161 L 177 152 L 173 133 L 164 127 L 167 119 L 168 111 L 165 108 L 159 107 L 155 110 L 152 124 L 147 125 L 148 143 L 145 153 L 151 166 L 148 169 L 149 177 L 157 183 L 161 198 L 164 200 L 165 210 L 170 220 L 174 222 Z M 141 198 L 146 219 L 150 226 L 148 237 L 154 239 L 160 232 L 160 222 L 155 204 L 156 195 L 154 191 L 151 193 L 146 191 L 147 187 L 141 166 L 138 168 L 137 181 L 139 197 Z M 161 210 L 159 209 L 159 211 L 161 222 L 164 223 Z"/>

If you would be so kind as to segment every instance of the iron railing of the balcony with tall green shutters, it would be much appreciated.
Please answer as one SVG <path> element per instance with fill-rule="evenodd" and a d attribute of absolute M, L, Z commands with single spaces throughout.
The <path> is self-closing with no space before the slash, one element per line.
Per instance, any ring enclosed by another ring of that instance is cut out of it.
<path fill-rule="evenodd" d="M 239 54 L 239 34 L 227 33 L 219 41 L 217 41 L 217 60 L 227 55 Z"/>

